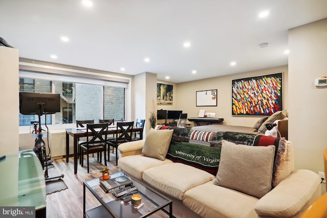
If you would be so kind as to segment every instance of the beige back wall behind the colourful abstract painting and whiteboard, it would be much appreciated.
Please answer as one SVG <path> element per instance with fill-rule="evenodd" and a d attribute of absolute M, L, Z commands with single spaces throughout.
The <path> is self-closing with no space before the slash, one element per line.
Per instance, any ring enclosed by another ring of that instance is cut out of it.
<path fill-rule="evenodd" d="M 288 67 L 278 66 L 267 69 L 260 69 L 240 74 L 213 77 L 204 80 L 178 83 L 177 91 L 174 93 L 175 108 L 188 113 L 188 117 L 197 117 L 199 109 L 205 109 L 206 112 L 216 113 L 216 117 L 224 118 L 224 124 L 232 126 L 252 127 L 259 119 L 258 116 L 232 116 L 231 115 L 231 80 L 260 76 L 265 74 L 274 74 L 283 72 L 283 109 L 288 108 Z M 217 89 L 217 107 L 196 107 L 196 91 Z M 175 90 L 175 87 L 174 87 Z"/>

